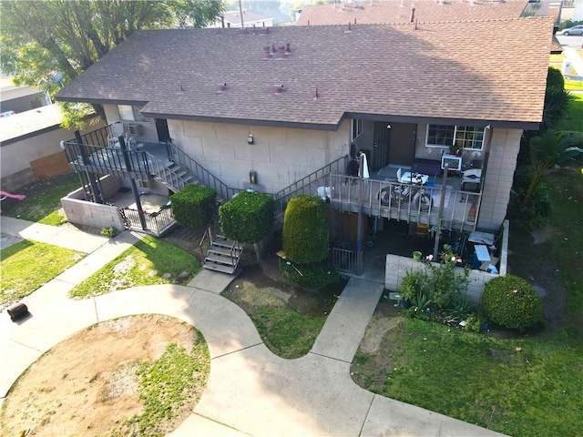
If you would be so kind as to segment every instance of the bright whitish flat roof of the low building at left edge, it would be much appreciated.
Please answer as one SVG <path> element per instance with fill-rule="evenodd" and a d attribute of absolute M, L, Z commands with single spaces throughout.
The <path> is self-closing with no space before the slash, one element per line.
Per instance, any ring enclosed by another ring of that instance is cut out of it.
<path fill-rule="evenodd" d="M 58 128 L 63 113 L 56 105 L 37 107 L 10 117 L 0 117 L 0 142 L 14 142 L 17 138 Z"/>

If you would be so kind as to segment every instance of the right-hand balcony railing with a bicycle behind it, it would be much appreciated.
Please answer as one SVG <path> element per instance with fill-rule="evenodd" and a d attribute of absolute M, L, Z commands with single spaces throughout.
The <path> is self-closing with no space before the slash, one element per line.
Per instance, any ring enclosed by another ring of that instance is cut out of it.
<path fill-rule="evenodd" d="M 332 209 L 356 213 L 362 208 L 363 214 L 373 217 L 414 221 L 442 229 L 475 230 L 482 201 L 481 193 L 446 188 L 439 217 L 444 191 L 441 186 L 420 187 L 334 174 L 328 178 L 328 184 Z"/>

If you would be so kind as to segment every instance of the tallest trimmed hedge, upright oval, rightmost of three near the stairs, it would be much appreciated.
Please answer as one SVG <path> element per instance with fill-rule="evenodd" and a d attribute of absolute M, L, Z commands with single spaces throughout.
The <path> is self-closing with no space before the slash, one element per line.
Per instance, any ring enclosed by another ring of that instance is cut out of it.
<path fill-rule="evenodd" d="M 300 194 L 285 208 L 283 250 L 296 264 L 328 258 L 329 235 L 322 198 Z"/>

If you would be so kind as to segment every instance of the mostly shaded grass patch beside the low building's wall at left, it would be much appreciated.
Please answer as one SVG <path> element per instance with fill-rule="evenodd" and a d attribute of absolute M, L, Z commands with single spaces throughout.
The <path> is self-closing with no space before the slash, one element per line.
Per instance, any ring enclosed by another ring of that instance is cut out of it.
<path fill-rule="evenodd" d="M 24 200 L 6 198 L 2 201 L 2 213 L 8 217 L 36 221 L 45 225 L 58 226 L 66 222 L 58 209 L 61 198 L 81 186 L 75 173 L 49 179 L 51 185 L 38 183 L 33 187 L 24 188 L 17 194 L 26 195 Z"/>

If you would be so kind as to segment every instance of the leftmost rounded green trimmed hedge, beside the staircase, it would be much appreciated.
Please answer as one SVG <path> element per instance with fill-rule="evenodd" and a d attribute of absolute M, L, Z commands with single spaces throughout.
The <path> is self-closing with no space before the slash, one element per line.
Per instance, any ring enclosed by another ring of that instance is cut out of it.
<path fill-rule="evenodd" d="M 170 196 L 174 219 L 188 228 L 204 228 L 215 213 L 216 198 L 214 188 L 187 185 Z"/>

